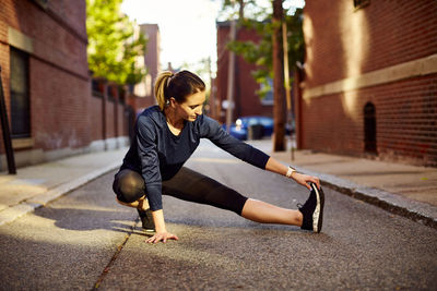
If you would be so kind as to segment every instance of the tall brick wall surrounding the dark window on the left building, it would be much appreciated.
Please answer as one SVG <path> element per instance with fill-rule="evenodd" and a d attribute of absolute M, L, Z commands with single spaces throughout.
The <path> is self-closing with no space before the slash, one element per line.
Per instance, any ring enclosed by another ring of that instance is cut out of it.
<path fill-rule="evenodd" d="M 10 118 L 10 46 L 29 57 L 32 145 L 24 149 L 78 148 L 91 142 L 84 20 L 85 1 L 49 1 L 46 9 L 33 1 L 2 1 L 0 60 Z M 11 29 L 32 46 L 21 47 L 11 40 Z"/>

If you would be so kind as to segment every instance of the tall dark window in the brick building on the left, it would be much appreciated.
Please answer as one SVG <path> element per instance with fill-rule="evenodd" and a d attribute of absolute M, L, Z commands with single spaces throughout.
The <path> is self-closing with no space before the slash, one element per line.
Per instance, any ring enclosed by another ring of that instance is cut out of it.
<path fill-rule="evenodd" d="M 11 135 L 15 138 L 31 136 L 28 92 L 28 56 L 11 47 Z"/>

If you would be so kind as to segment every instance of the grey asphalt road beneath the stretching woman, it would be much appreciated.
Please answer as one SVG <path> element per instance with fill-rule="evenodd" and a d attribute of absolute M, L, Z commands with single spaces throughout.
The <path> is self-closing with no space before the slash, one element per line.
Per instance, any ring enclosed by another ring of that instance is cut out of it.
<path fill-rule="evenodd" d="M 209 143 L 187 163 L 296 208 L 308 192 Z M 178 242 L 149 245 L 113 173 L 0 227 L 1 290 L 437 290 L 437 231 L 324 189 L 319 234 L 164 197 Z"/>

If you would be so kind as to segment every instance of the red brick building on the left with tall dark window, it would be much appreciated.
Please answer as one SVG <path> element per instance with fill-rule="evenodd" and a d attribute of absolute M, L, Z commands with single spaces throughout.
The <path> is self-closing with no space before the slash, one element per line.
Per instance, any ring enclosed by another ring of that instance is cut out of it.
<path fill-rule="evenodd" d="M 118 87 L 96 83 L 102 94 L 92 94 L 85 20 L 85 0 L 1 1 L 1 80 L 17 166 L 128 141 Z M 0 170 L 4 151 L 0 135 Z"/>

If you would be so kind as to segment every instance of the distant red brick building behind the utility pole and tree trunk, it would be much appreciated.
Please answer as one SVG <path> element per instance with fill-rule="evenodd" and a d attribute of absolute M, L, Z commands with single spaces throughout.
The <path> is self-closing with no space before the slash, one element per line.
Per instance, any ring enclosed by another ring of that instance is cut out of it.
<path fill-rule="evenodd" d="M 259 36 L 255 31 L 239 28 L 236 39 L 240 41 L 259 40 Z M 214 104 L 210 107 L 214 109 L 215 119 L 221 122 L 226 121 L 226 109 L 223 107 L 223 101 L 227 100 L 227 82 L 228 82 L 228 64 L 229 51 L 226 49 L 226 44 L 231 40 L 231 23 L 217 23 L 217 73 L 215 78 Z M 256 92 L 260 85 L 255 82 L 250 72 L 256 70 L 255 64 L 246 62 L 243 57 L 235 56 L 235 86 L 234 86 L 234 112 L 232 120 L 235 121 L 238 117 L 245 116 L 265 116 L 273 114 L 273 100 L 268 98 L 261 100 Z"/>

